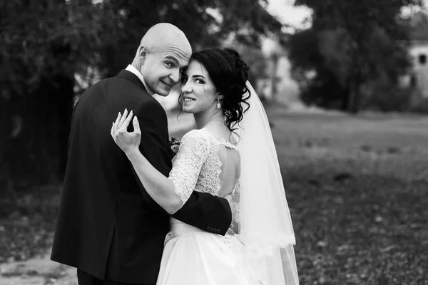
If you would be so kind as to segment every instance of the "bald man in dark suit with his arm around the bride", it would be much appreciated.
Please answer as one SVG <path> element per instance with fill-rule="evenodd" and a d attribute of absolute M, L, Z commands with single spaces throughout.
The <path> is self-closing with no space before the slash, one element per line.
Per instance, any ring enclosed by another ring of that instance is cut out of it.
<path fill-rule="evenodd" d="M 78 100 L 51 259 L 76 267 L 81 285 L 156 284 L 170 217 L 148 195 L 110 129 L 118 112 L 133 110 L 141 125 L 141 152 L 168 176 L 167 118 L 151 95 L 170 93 L 191 53 L 182 31 L 157 24 L 126 70 L 94 84 Z M 226 199 L 200 192 L 173 217 L 223 235 L 232 219 Z"/>

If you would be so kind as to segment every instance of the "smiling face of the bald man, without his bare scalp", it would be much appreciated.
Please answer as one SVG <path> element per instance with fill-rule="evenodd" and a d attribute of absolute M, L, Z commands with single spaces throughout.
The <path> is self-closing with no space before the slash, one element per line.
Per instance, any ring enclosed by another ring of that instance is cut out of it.
<path fill-rule="evenodd" d="M 185 47 L 177 44 L 148 51 L 141 66 L 141 74 L 148 88 L 153 93 L 168 96 L 171 88 L 180 82 L 190 55 L 191 51 L 185 51 Z"/>

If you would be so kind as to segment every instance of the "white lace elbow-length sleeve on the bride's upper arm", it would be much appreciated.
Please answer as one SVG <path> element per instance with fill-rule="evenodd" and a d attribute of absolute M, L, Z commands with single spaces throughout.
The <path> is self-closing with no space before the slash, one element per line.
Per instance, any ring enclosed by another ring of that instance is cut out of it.
<path fill-rule="evenodd" d="M 200 169 L 208 157 L 209 150 L 208 140 L 198 130 L 191 130 L 181 140 L 168 178 L 173 182 L 175 193 L 181 197 L 183 204 L 195 189 Z"/>

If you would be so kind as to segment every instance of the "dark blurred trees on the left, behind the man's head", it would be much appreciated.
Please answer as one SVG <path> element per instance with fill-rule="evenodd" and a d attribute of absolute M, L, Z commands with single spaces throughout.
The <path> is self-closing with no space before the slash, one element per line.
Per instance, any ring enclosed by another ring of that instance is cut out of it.
<path fill-rule="evenodd" d="M 279 38 L 282 28 L 266 4 L 0 0 L 0 195 L 61 180 L 73 96 L 81 92 L 75 78 L 87 83 L 116 75 L 153 24 L 175 24 L 194 50 L 227 40 L 263 72 L 260 37 Z"/>

